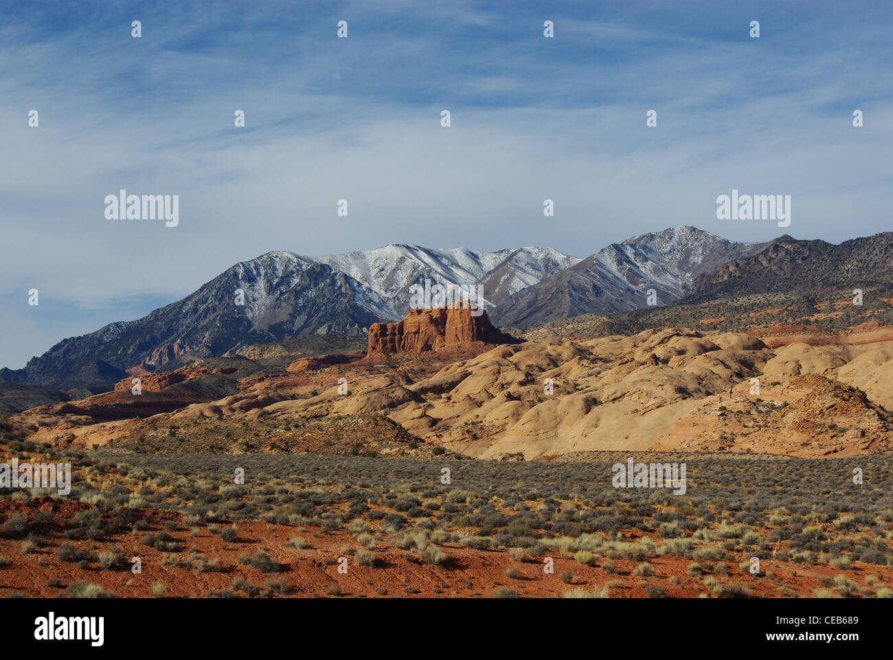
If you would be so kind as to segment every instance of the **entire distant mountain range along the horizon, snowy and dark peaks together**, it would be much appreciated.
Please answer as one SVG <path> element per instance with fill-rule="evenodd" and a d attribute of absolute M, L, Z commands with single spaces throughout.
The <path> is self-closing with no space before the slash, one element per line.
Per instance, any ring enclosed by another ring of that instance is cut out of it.
<path fill-rule="evenodd" d="M 789 236 L 737 243 L 681 226 L 583 259 L 538 247 L 480 252 L 388 245 L 320 258 L 274 251 L 230 267 L 146 317 L 65 339 L 23 369 L 0 369 L 0 381 L 90 387 L 289 337 L 363 336 L 371 323 L 403 317 L 410 287 L 426 278 L 480 284 L 495 324 L 536 326 L 645 308 L 649 289 L 664 305 L 760 290 L 867 285 L 891 276 L 893 233 L 839 246 Z"/>

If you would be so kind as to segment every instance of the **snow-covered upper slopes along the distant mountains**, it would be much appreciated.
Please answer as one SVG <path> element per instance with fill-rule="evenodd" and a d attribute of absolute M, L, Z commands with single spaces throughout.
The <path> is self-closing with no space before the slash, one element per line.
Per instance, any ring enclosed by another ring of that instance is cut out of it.
<path fill-rule="evenodd" d="M 574 313 L 633 309 L 640 301 L 631 294 L 645 283 L 664 302 L 678 300 L 691 291 L 697 275 L 756 247 L 683 225 L 613 243 L 585 259 L 543 247 L 487 252 L 391 244 L 322 257 L 277 250 L 239 267 L 255 317 L 263 317 L 271 299 L 294 287 L 299 274 L 316 263 L 346 275 L 342 287 L 350 289 L 354 304 L 382 320 L 402 318 L 412 306 L 410 287 L 424 287 L 427 279 L 432 285 L 480 286 L 491 317 L 530 323 L 546 312 L 527 308 L 551 309 L 565 298 L 572 301 L 567 311 Z M 601 293 L 593 298 L 593 292 Z M 273 307 L 280 309 L 280 301 Z"/>

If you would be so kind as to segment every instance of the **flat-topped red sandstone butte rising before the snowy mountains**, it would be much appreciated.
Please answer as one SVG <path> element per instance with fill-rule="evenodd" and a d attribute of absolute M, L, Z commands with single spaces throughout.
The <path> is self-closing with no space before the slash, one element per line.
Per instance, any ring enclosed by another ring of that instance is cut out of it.
<path fill-rule="evenodd" d="M 410 309 L 396 323 L 369 326 L 368 356 L 421 353 L 460 343 L 521 343 L 490 323 L 487 312 L 472 316 L 470 308 Z"/>

